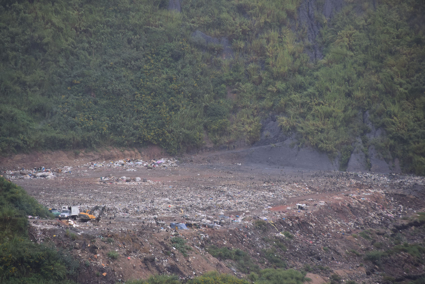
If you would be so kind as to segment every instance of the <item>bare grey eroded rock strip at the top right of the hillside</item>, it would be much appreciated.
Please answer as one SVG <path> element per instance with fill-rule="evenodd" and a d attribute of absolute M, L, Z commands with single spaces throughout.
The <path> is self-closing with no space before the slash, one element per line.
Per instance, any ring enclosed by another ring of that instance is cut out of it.
<path fill-rule="evenodd" d="M 317 42 L 322 28 L 321 20 L 331 19 L 345 5 L 344 0 L 304 0 L 298 9 L 299 26 L 305 26 L 307 39 L 311 46 L 306 48 L 310 60 L 323 59 L 323 53 Z"/>

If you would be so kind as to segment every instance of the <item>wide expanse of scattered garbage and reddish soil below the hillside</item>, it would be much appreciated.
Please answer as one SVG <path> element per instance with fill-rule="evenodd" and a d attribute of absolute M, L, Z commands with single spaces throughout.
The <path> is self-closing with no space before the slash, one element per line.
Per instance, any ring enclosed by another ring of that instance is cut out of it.
<path fill-rule="evenodd" d="M 357 283 L 422 277 L 424 262 L 405 251 L 425 237 L 423 177 L 135 162 L 86 163 L 54 179 L 14 181 L 47 207 L 106 205 L 99 222 L 30 220 L 34 240 L 54 241 L 88 264 L 85 283 L 252 272 L 213 257 L 222 248 L 246 253 L 249 267 L 303 269 L 327 282 L 332 274 Z"/>

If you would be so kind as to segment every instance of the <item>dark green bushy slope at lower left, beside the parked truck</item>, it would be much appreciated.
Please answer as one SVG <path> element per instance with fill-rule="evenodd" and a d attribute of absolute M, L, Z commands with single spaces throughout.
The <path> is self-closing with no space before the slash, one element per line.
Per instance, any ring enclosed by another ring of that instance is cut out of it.
<path fill-rule="evenodd" d="M 46 218 L 47 208 L 0 176 L 0 282 L 74 283 L 78 261 L 55 247 L 33 243 L 28 215 Z"/>

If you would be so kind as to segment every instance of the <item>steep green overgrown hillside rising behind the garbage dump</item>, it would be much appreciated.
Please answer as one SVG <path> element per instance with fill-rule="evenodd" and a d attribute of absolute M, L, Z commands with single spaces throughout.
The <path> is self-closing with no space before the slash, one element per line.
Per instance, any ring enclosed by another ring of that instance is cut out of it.
<path fill-rule="evenodd" d="M 0 6 L 0 153 L 150 143 L 177 153 L 204 133 L 232 148 L 258 141 L 272 113 L 331 157 L 360 136 L 365 151 L 425 174 L 423 1 L 347 0 L 331 19 L 317 1 L 317 62 L 300 0 L 182 0 L 181 11 L 165 0 L 32 2 Z M 367 139 L 366 111 L 383 138 Z"/>

